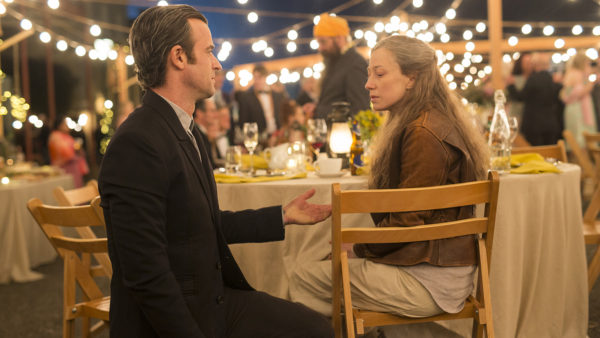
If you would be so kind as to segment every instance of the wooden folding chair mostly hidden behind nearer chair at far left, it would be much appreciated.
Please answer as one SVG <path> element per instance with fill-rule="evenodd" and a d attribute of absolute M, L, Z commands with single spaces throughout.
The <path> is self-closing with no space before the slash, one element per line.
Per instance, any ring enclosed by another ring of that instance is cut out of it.
<path fill-rule="evenodd" d="M 58 205 L 65 207 L 89 204 L 94 198 L 100 196 L 100 192 L 98 191 L 98 182 L 96 180 L 90 180 L 85 186 L 71 190 L 64 190 L 63 187 L 56 187 L 53 193 Z M 104 215 L 100 216 L 104 217 Z M 90 227 L 77 227 L 75 230 L 81 238 L 97 238 L 96 234 Z M 92 256 L 96 262 L 98 262 L 97 266 L 92 267 L 93 275 L 105 275 L 108 278 L 111 278 L 112 265 L 110 263 L 108 254 L 97 252 Z"/>

